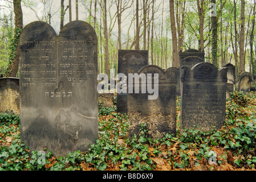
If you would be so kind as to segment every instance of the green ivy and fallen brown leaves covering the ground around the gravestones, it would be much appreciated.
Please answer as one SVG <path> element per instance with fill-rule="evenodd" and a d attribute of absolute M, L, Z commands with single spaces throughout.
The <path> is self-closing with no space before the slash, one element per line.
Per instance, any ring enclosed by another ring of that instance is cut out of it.
<path fill-rule="evenodd" d="M 0 114 L 1 170 L 255 170 L 255 93 L 234 91 L 226 102 L 226 120 L 220 130 L 185 130 L 177 137 L 147 138 L 145 124 L 128 136 L 127 115 L 99 107 L 99 139 L 88 151 L 56 157 L 21 142 L 19 115 Z M 177 123 L 180 118 L 177 99 Z M 177 124 L 177 127 L 179 125 Z"/>

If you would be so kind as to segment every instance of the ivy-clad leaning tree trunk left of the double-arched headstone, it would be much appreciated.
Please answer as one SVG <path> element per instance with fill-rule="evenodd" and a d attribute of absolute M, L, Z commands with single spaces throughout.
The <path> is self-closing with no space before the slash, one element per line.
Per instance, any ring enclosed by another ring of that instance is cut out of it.
<path fill-rule="evenodd" d="M 16 77 L 19 68 L 19 35 L 23 28 L 23 15 L 21 8 L 21 0 L 13 0 L 14 14 L 15 14 L 15 33 L 13 44 L 16 47 L 11 50 L 9 67 L 6 69 L 6 77 Z M 14 58 L 12 58 L 14 57 Z"/>

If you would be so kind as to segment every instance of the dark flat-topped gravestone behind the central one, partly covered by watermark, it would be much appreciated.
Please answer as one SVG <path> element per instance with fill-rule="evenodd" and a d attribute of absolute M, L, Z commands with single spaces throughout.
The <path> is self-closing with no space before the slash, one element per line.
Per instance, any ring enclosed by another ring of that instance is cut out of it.
<path fill-rule="evenodd" d="M 148 65 L 147 50 L 118 50 L 117 73 L 124 73 L 127 76 L 127 68 L 139 70 L 145 65 Z M 117 93 L 116 110 L 122 114 L 127 113 L 127 93 Z"/>

